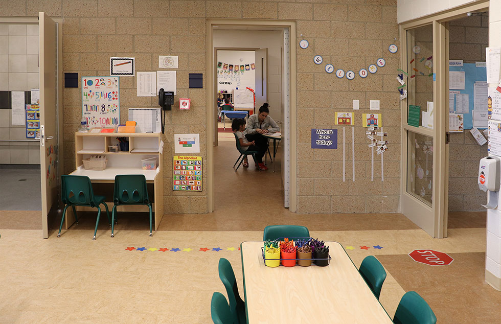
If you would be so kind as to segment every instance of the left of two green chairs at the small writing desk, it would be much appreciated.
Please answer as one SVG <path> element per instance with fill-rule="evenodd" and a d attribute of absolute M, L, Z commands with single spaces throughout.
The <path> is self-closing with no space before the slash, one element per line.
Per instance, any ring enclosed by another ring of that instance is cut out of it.
<path fill-rule="evenodd" d="M 101 216 L 100 204 L 104 205 L 106 209 L 106 216 L 109 222 L 109 211 L 108 205 L 104 202 L 106 200 L 105 196 L 98 196 L 94 194 L 92 190 L 92 183 L 87 176 L 83 175 L 63 175 L 61 176 L 62 181 L 62 202 L 65 204 L 63 210 L 63 216 L 61 218 L 61 225 L 59 225 L 59 233 L 57 237 L 61 237 L 61 228 L 64 222 L 64 217 L 66 217 L 66 209 L 72 207 L 73 214 L 75 215 L 75 220 L 78 224 L 77 211 L 75 206 L 90 206 L 96 207 L 98 209 L 98 218 L 96 220 L 96 228 L 94 229 L 94 238 L 96 239 L 96 232 L 98 230 L 99 216 Z M 111 226 L 111 224 L 109 224 Z"/>

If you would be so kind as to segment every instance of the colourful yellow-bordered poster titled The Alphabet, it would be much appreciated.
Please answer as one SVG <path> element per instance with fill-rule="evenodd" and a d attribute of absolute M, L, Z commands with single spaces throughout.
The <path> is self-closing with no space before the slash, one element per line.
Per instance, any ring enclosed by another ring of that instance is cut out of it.
<path fill-rule="evenodd" d="M 174 155 L 174 191 L 202 191 L 202 157 Z"/>

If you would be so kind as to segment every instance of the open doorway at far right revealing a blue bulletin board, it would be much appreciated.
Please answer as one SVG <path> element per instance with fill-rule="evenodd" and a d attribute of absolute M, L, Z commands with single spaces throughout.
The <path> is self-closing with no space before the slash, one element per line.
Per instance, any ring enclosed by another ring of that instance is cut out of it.
<path fill-rule="evenodd" d="M 488 110 L 485 48 L 489 43 L 489 16 L 487 9 L 483 11 L 448 22 L 448 228 L 486 227 L 482 206 L 486 195 L 479 189 L 477 173 L 479 160 L 488 154 L 487 144 L 478 143 L 471 132 L 487 138 L 483 132 L 487 129 Z M 458 130 L 454 127 L 459 119 L 464 121 L 464 127 Z"/>

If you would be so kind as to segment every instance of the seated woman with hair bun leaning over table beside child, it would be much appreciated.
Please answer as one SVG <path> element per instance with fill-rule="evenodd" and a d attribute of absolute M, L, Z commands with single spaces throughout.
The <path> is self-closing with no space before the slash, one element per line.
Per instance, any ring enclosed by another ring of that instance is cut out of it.
<path fill-rule="evenodd" d="M 245 137 L 247 141 L 254 141 L 256 146 L 268 147 L 268 140 L 266 137 L 261 136 L 261 134 L 275 133 L 280 131 L 277 123 L 269 117 L 268 103 L 264 103 L 259 108 L 259 113 L 250 115 L 247 119 L 247 128 L 245 129 Z M 247 168 L 249 166 L 247 157 L 243 161 L 243 166 Z"/>

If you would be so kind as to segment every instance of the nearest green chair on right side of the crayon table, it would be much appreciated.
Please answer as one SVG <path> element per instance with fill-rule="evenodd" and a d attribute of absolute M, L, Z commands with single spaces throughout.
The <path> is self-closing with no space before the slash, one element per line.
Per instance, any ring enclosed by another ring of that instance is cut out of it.
<path fill-rule="evenodd" d="M 408 291 L 398 303 L 393 322 L 395 324 L 435 324 L 437 316 L 423 297 L 415 291 Z"/>

